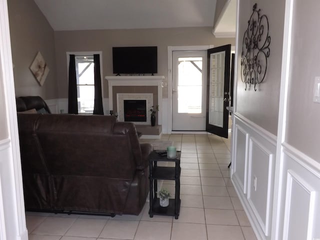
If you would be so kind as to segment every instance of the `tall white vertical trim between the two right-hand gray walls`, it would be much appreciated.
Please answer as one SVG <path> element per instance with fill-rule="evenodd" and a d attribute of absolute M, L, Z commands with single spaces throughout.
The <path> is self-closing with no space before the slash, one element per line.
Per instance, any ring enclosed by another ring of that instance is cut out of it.
<path fill-rule="evenodd" d="M 286 109 L 287 109 L 287 94 L 290 71 L 290 56 L 291 56 L 291 31 L 292 31 L 292 15 L 293 15 L 293 1 L 285 0 L 285 15 L 284 15 L 284 29 L 283 29 L 283 49 L 282 49 L 282 67 L 281 67 L 281 83 L 280 83 L 280 99 L 279 99 L 279 116 L 278 116 L 278 130 L 276 143 L 276 157 L 275 157 L 275 175 L 274 175 L 274 193 L 273 193 L 273 214 L 272 214 L 272 228 L 271 239 L 279 239 L 279 226 L 281 225 L 281 192 L 283 190 L 283 182 L 281 180 L 281 172 L 283 168 L 283 148 L 282 143 L 285 141 L 285 126 L 286 126 Z"/>

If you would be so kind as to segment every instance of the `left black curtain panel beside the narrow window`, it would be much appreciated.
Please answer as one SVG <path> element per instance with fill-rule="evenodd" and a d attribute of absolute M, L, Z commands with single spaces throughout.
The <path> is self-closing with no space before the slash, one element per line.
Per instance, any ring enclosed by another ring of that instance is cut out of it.
<path fill-rule="evenodd" d="M 75 57 L 70 54 L 69 61 L 69 89 L 68 89 L 68 113 L 78 114 L 78 100 L 76 93 Z"/>

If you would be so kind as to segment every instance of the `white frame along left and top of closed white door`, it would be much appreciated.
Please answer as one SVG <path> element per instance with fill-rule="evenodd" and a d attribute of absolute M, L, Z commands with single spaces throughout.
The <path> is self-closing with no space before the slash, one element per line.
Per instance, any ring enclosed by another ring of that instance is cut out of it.
<path fill-rule="evenodd" d="M 206 51 L 213 45 L 195 45 L 195 46 L 168 46 L 168 110 L 167 123 L 168 134 L 172 133 L 172 52 L 173 51 Z"/>

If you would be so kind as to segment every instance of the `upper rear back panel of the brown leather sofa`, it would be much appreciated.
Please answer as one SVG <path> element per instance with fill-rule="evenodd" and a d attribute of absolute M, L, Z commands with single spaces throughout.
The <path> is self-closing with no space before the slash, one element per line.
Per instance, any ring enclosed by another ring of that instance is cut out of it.
<path fill-rule="evenodd" d="M 114 116 L 41 115 L 36 135 L 49 171 L 53 175 L 132 179 L 135 161 L 130 138 L 113 134 L 115 124 Z"/>

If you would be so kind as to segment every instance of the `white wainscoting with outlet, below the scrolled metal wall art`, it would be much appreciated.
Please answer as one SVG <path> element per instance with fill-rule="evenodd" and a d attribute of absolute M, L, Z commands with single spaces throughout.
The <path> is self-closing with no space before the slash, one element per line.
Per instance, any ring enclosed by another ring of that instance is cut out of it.
<path fill-rule="evenodd" d="M 237 112 L 233 116 L 231 179 L 257 239 L 271 239 L 276 136 Z"/>

